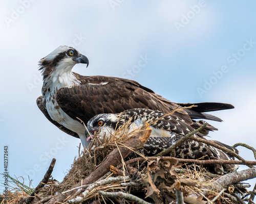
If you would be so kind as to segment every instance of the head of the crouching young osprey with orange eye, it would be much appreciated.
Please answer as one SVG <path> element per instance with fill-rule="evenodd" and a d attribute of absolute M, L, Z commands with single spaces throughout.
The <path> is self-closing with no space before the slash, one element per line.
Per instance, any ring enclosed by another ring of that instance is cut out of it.
<path fill-rule="evenodd" d="M 116 114 L 98 114 L 91 118 L 87 123 L 87 129 L 92 135 L 87 138 L 87 141 L 95 134 L 97 134 L 100 141 L 103 141 L 103 139 L 110 139 L 115 132 L 118 119 Z"/>

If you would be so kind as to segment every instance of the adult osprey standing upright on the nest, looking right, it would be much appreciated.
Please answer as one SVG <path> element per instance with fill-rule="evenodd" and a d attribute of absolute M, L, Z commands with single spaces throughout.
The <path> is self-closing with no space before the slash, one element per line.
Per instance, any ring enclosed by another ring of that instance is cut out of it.
<path fill-rule="evenodd" d="M 82 145 L 88 145 L 84 126 L 76 118 L 87 123 L 100 113 L 120 113 L 133 108 L 160 110 L 168 113 L 178 106 L 139 83 L 103 76 L 82 76 L 72 72 L 77 63 L 89 64 L 88 58 L 69 46 L 59 46 L 39 61 L 44 84 L 37 106 L 44 115 L 65 133 L 79 137 Z M 189 110 L 175 112 L 188 125 L 200 126 L 193 118 L 222 121 L 202 113 L 234 108 L 229 104 L 201 103 Z M 211 130 L 211 129 L 210 129 Z M 215 129 L 216 130 L 216 129 Z"/>

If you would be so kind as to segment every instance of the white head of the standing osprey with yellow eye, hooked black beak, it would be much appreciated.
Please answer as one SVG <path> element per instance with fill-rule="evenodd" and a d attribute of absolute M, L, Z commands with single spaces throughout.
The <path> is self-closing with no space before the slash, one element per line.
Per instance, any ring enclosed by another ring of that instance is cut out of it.
<path fill-rule="evenodd" d="M 89 60 L 75 48 L 63 45 L 39 61 L 39 70 L 42 70 L 45 78 L 53 71 L 71 72 L 74 65 L 78 63 L 87 64 L 88 67 Z"/>

